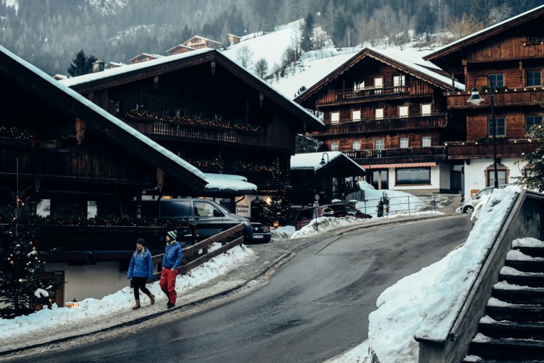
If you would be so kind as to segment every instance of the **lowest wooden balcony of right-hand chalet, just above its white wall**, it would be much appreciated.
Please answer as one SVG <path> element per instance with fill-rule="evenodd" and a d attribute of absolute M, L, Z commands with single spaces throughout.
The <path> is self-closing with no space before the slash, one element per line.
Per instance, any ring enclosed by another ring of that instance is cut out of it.
<path fill-rule="evenodd" d="M 497 140 L 498 158 L 520 158 L 522 154 L 533 152 L 538 142 L 522 140 Z M 492 158 L 493 145 L 491 142 L 448 142 L 448 159 L 460 160 L 471 158 Z"/>

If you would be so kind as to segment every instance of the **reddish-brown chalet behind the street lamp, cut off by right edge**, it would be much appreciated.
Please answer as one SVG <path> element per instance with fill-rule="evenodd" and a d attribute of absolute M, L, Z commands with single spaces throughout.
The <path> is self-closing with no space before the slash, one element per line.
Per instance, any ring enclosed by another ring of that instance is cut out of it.
<path fill-rule="evenodd" d="M 425 57 L 466 85 L 467 91 L 446 93 L 448 111 L 467 124 L 463 140 L 448 142 L 447 148 L 448 159 L 464 163 L 465 198 L 494 184 L 490 87 L 494 87 L 499 184 L 513 183 L 527 172 L 516 162 L 523 153 L 534 151 L 536 145 L 525 135 L 542 122 L 543 21 L 544 6 L 539 6 Z M 467 103 L 475 79 L 485 98 L 478 106 Z"/>

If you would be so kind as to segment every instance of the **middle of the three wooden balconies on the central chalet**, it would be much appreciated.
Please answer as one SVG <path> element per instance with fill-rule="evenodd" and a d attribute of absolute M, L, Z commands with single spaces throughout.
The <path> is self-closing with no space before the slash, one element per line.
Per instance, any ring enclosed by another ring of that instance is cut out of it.
<path fill-rule="evenodd" d="M 386 131 L 421 130 L 445 128 L 448 126 L 446 113 L 435 113 L 411 117 L 384 117 L 383 119 L 361 119 L 328 124 L 323 133 L 314 132 L 312 136 L 352 135 L 356 133 L 381 133 Z"/>

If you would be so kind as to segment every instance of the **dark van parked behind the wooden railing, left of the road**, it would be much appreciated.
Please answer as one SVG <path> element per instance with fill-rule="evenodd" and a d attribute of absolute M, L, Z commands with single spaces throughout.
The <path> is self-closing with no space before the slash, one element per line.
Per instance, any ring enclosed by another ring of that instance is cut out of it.
<path fill-rule="evenodd" d="M 244 225 L 245 243 L 266 243 L 271 239 L 269 226 L 262 223 L 252 223 L 248 218 L 231 213 L 225 207 L 209 199 L 142 200 L 142 216 L 174 218 L 181 223 L 197 225 L 199 239 L 217 235 L 239 223 Z"/>

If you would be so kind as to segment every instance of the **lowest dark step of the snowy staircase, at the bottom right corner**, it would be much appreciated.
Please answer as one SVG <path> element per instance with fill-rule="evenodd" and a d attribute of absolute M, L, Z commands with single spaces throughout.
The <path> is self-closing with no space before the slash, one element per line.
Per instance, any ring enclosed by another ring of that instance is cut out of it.
<path fill-rule="evenodd" d="M 478 334 L 479 335 L 479 334 Z M 541 360 L 544 341 L 526 339 L 478 339 L 471 341 L 469 352 L 486 359 Z"/>

